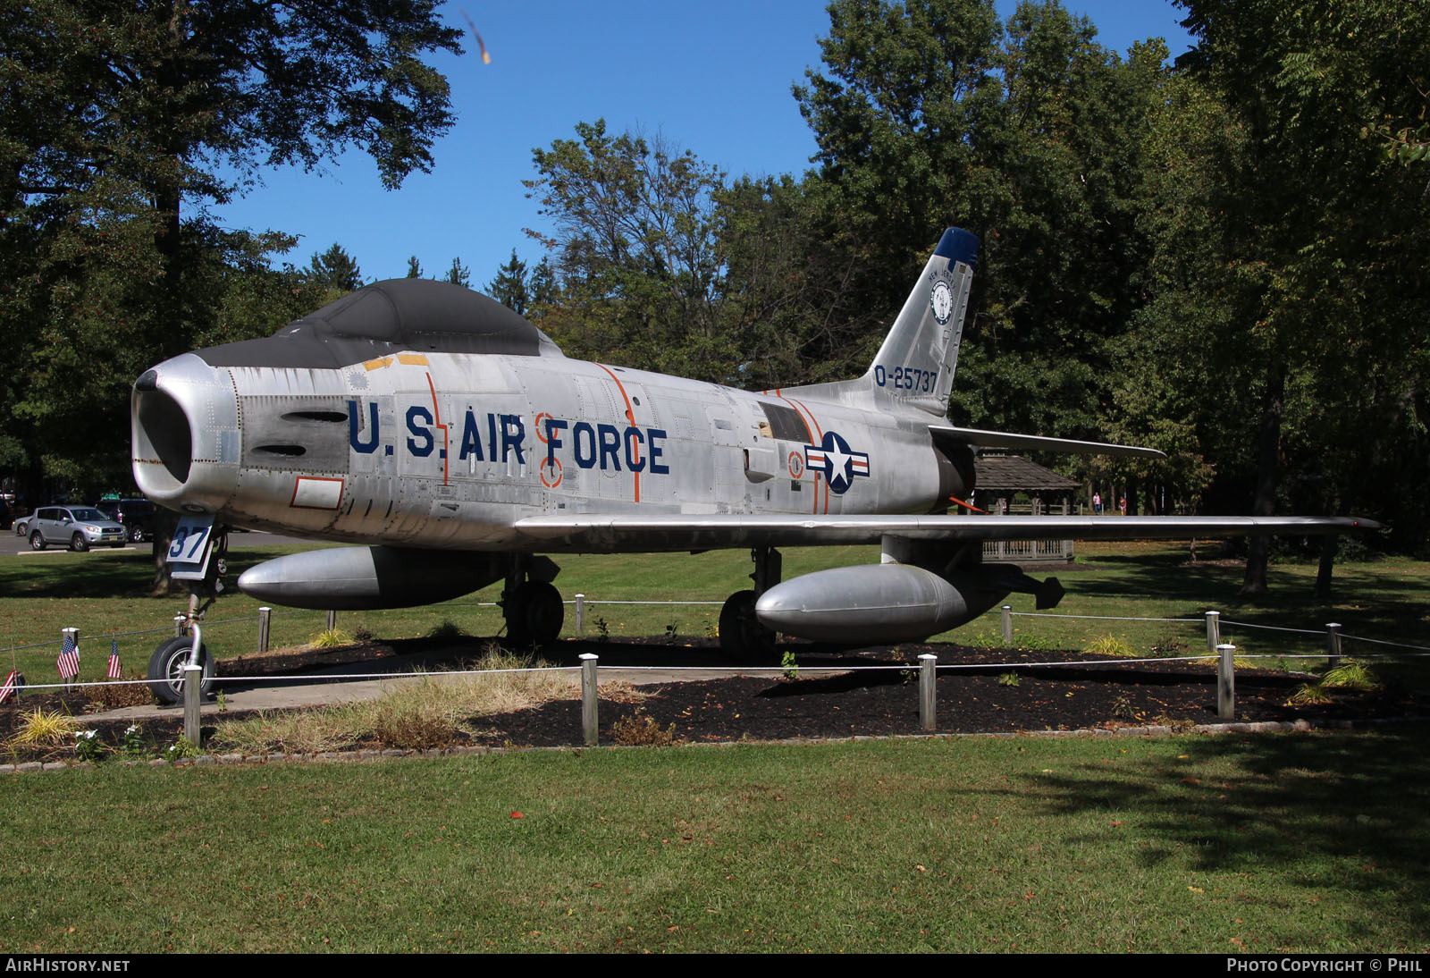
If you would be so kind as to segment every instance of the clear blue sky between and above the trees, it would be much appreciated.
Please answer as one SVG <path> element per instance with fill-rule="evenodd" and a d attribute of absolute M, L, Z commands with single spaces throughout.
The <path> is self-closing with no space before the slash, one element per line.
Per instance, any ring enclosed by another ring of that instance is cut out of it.
<path fill-rule="evenodd" d="M 789 89 L 819 66 L 825 1 L 448 3 L 443 17 L 465 29 L 465 9 L 492 63 L 482 64 L 470 34 L 468 54 L 438 61 L 458 123 L 436 144 L 432 173 L 383 190 L 372 160 L 355 152 L 319 172 L 266 172 L 263 186 L 212 213 L 227 227 L 299 234 L 285 259 L 293 265 L 333 242 L 368 280 L 406 275 L 409 255 L 428 276 L 460 256 L 482 287 L 512 247 L 529 265 L 541 259 L 522 232 L 541 220 L 522 180 L 535 174 L 532 149 L 571 137 L 578 122 L 661 133 L 731 174 L 808 169 L 814 137 Z M 997 6 L 1007 16 L 1015 3 Z M 1154 36 L 1173 57 L 1190 44 L 1168 0 L 1065 6 L 1123 53 Z"/>

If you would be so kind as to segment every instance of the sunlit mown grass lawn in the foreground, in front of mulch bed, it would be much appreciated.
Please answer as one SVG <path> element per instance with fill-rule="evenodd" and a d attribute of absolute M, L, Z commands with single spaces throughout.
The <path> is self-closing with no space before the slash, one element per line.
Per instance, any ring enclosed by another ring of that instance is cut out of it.
<path fill-rule="evenodd" d="M 1407 728 L 14 775 L 0 949 L 1424 952 L 1427 748 Z"/>

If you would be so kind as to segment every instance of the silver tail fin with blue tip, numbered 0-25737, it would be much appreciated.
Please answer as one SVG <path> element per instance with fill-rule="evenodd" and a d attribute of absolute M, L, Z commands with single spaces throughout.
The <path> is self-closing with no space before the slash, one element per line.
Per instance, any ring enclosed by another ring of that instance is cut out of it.
<path fill-rule="evenodd" d="M 940 418 L 948 412 L 977 262 L 975 234 L 944 232 L 865 375 L 877 392 Z"/>

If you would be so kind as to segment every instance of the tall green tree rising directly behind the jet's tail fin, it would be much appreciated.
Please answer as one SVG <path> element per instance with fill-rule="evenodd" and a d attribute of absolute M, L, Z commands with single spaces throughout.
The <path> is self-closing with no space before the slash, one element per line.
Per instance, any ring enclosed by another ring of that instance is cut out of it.
<path fill-rule="evenodd" d="M 987 0 L 838 0 L 824 70 L 795 89 L 819 144 L 809 189 L 839 280 L 887 322 L 947 224 L 982 239 L 954 412 L 1104 436 L 1110 342 L 1143 300 L 1140 144 L 1165 49 L 1124 61 L 1057 3 L 1007 27 Z M 861 360 L 878 330 L 831 330 Z M 865 360 L 867 362 L 867 360 Z"/>

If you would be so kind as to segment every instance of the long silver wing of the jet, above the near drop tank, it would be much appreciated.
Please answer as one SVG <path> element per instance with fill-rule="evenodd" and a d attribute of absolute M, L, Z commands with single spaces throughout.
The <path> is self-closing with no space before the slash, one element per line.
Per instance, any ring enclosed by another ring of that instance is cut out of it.
<path fill-rule="evenodd" d="M 1308 536 L 1379 529 L 1354 516 L 771 516 L 562 515 L 529 516 L 513 529 L 533 549 L 702 550 L 736 546 L 878 543 L 884 536 L 924 540 L 1138 540 L 1203 536 Z"/>

